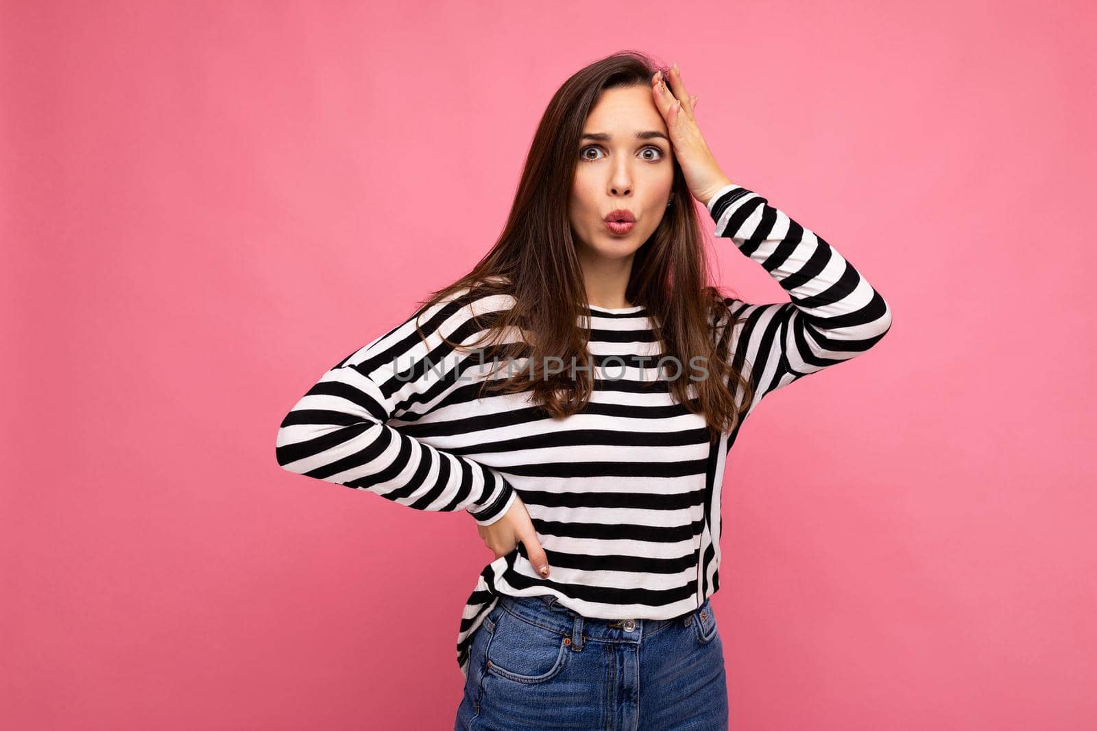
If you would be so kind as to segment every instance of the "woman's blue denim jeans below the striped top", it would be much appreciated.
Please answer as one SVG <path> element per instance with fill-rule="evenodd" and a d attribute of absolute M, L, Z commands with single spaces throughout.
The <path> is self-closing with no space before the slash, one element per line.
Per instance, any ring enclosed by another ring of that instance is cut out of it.
<path fill-rule="evenodd" d="M 554 596 L 499 596 L 470 648 L 455 731 L 727 729 L 712 606 L 590 619 Z"/>

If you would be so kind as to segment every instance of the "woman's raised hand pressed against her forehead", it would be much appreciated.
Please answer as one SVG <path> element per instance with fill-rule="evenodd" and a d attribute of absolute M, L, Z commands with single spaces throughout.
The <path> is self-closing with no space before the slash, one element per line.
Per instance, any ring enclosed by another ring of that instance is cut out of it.
<path fill-rule="evenodd" d="M 670 89 L 667 89 L 667 81 L 670 82 Z M 712 196 L 732 181 L 716 164 L 701 136 L 701 129 L 693 117 L 697 98 L 690 98 L 687 93 L 677 62 L 670 68 L 669 79 L 664 79 L 661 71 L 652 77 L 652 95 L 655 98 L 655 106 L 667 123 L 675 157 L 686 176 L 690 194 L 702 205 L 708 205 Z"/>

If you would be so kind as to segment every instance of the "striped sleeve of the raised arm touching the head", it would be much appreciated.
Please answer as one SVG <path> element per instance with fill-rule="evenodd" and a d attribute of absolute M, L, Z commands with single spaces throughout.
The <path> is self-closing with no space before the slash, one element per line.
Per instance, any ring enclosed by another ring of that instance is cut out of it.
<path fill-rule="evenodd" d="M 725 300 L 744 319 L 736 357 L 749 365 L 756 392 L 767 393 L 827 366 L 849 361 L 891 328 L 891 308 L 853 265 L 822 237 L 740 185 L 726 185 L 708 203 L 717 237 L 761 264 L 791 302 Z M 753 408 L 753 407 L 751 407 Z"/>

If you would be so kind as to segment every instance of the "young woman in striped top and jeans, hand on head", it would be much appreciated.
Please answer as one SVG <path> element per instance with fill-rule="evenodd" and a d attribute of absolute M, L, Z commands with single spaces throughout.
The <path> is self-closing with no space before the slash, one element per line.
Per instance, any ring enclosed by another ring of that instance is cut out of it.
<path fill-rule="evenodd" d="M 457 729 L 726 728 L 727 452 L 762 397 L 891 327 L 846 259 L 724 173 L 697 101 L 636 53 L 575 73 L 491 250 L 279 430 L 285 469 L 464 510 L 495 552 L 457 633 Z M 791 301 L 708 284 L 694 199 Z"/>

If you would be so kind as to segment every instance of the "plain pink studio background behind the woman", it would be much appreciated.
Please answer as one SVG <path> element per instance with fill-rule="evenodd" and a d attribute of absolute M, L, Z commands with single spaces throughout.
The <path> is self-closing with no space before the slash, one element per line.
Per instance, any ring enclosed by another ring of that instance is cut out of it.
<path fill-rule="evenodd" d="M 894 311 L 732 452 L 732 728 L 1095 728 L 1094 12 L 5 2 L 0 718 L 452 728 L 475 524 L 289 473 L 275 431 L 487 250 L 564 79 L 637 48 Z"/>

